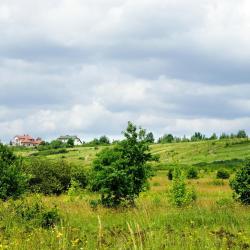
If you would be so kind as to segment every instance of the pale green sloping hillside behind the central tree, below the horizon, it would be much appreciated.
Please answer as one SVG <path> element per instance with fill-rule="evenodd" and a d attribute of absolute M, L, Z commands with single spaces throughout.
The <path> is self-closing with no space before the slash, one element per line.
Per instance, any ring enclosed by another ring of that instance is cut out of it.
<path fill-rule="evenodd" d="M 95 155 L 104 146 L 99 147 L 75 147 L 67 149 L 64 154 L 52 154 L 44 156 L 48 159 L 64 159 L 71 163 L 91 166 Z M 228 139 L 217 141 L 200 141 L 185 143 L 154 144 L 151 146 L 153 154 L 160 156 L 160 162 L 156 164 L 159 169 L 166 169 L 169 165 L 197 165 L 197 166 L 232 166 L 240 164 L 241 160 L 250 158 L 250 140 Z M 17 151 L 18 154 L 29 157 L 36 150 L 27 149 Z"/>

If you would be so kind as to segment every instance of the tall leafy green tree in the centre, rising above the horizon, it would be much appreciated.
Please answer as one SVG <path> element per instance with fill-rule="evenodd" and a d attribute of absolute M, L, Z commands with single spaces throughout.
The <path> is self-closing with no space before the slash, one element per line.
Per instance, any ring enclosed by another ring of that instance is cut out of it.
<path fill-rule="evenodd" d="M 123 134 L 125 139 L 102 150 L 92 167 L 91 189 L 100 192 L 102 204 L 109 207 L 134 204 L 152 176 L 148 162 L 156 160 L 149 152 L 144 129 L 129 122 Z"/>

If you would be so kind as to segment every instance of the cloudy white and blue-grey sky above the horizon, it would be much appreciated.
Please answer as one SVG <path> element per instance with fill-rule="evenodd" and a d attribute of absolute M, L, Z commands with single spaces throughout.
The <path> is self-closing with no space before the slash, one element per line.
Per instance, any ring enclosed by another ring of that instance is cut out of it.
<path fill-rule="evenodd" d="M 250 133 L 248 0 L 0 0 L 0 139 Z"/>

